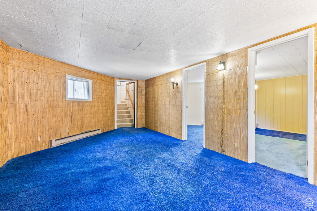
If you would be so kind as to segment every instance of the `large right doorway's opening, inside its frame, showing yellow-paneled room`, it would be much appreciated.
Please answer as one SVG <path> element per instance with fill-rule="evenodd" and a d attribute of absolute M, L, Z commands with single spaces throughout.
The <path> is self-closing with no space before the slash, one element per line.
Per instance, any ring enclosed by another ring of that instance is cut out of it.
<path fill-rule="evenodd" d="M 255 161 L 307 178 L 308 37 L 257 51 Z"/>

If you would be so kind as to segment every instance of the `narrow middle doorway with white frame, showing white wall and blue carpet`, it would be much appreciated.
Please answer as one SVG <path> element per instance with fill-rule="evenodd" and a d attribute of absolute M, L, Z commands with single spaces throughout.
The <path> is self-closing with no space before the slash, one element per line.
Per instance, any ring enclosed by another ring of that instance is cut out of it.
<path fill-rule="evenodd" d="M 205 147 L 206 63 L 183 69 L 183 140 L 202 137 Z"/>

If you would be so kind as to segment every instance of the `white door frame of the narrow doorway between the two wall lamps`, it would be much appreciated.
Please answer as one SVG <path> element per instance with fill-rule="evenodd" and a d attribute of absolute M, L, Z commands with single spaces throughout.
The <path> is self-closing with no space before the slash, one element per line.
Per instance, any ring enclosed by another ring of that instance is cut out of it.
<path fill-rule="evenodd" d="M 183 69 L 183 140 L 187 140 L 187 73 L 191 69 L 195 69 L 197 67 L 204 66 L 204 147 L 205 147 L 205 125 L 206 125 L 206 119 L 205 119 L 205 112 L 206 112 L 206 63 L 200 63 L 196 64 L 194 66 L 184 68 Z"/>

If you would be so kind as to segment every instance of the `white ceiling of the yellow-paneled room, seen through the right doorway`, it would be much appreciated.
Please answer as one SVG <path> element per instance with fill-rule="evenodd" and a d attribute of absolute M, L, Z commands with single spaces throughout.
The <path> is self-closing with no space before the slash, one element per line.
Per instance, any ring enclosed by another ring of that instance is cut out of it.
<path fill-rule="evenodd" d="M 307 74 L 308 37 L 257 52 L 256 80 Z"/>

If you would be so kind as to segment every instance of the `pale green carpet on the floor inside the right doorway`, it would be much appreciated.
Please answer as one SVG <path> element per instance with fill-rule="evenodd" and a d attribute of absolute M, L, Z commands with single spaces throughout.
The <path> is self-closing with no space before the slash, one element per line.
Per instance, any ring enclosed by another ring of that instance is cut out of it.
<path fill-rule="evenodd" d="M 306 142 L 256 134 L 256 162 L 306 177 Z"/>

